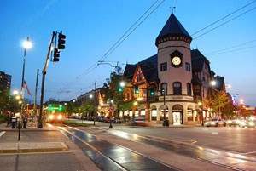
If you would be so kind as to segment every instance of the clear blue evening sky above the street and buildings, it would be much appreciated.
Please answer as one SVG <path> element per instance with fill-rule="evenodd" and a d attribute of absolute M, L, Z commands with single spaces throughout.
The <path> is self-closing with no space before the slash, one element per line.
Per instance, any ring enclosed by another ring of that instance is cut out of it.
<path fill-rule="evenodd" d="M 134 26 L 131 30 L 135 30 L 109 53 L 152 4 L 154 7 L 138 22 L 141 24 Z M 224 76 L 225 83 L 232 86 L 227 90 L 230 94 L 239 94 L 238 100 L 256 106 L 253 0 L 2 0 L 0 71 L 12 75 L 12 89 L 20 89 L 24 53 L 21 43 L 30 37 L 33 47 L 26 51 L 25 80 L 34 95 L 39 69 L 39 103 L 49 40 L 53 31 L 63 31 L 66 48 L 61 51 L 60 62 L 49 63 L 44 100 L 71 100 L 93 89 L 95 82 L 102 87 L 113 71 L 111 66 L 96 65 L 102 57 L 113 61 L 113 66 L 118 61 L 124 69 L 123 64 L 135 64 L 156 54 L 155 38 L 169 18 L 171 6 L 176 7 L 174 14 L 193 37 L 191 49 L 198 48 L 210 60 L 212 70 Z M 195 34 L 237 9 L 241 10 Z M 33 100 L 33 96 L 25 96 Z"/>

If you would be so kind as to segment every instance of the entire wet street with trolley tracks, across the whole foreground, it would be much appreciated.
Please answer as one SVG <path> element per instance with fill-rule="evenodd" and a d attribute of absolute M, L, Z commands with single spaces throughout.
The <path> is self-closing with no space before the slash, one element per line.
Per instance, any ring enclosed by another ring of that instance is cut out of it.
<path fill-rule="evenodd" d="M 78 120 L 78 122 L 80 122 Z M 92 123 L 90 121 L 83 121 Z M 50 130 L 45 130 L 50 128 Z M 128 127 L 98 123 L 89 127 L 47 124 L 21 130 L 22 142 L 64 142 L 66 152 L 1 154 L 5 170 L 255 170 L 256 128 Z M 7 130 L 0 143 L 15 141 Z"/>

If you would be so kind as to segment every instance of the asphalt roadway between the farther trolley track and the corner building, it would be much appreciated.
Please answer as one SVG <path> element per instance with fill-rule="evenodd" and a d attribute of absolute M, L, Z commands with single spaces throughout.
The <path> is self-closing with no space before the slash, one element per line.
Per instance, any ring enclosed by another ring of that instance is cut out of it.
<path fill-rule="evenodd" d="M 78 122 L 81 121 L 78 120 Z M 83 122 L 91 124 L 88 121 Z M 109 123 L 96 122 L 96 126 L 108 128 Z M 256 156 L 256 128 L 201 126 L 143 128 L 127 127 L 124 124 L 115 123 L 113 129 Z"/>

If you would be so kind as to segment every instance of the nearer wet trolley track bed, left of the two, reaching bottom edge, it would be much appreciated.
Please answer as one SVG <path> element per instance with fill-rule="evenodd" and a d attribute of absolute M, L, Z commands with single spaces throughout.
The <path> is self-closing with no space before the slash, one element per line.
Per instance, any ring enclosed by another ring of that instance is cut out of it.
<path fill-rule="evenodd" d="M 121 145 L 110 143 L 96 135 L 82 130 L 59 127 L 61 133 L 67 136 L 84 151 L 84 154 L 96 163 L 102 170 L 181 170 L 171 165 L 155 161 L 136 151 L 131 151 Z"/>

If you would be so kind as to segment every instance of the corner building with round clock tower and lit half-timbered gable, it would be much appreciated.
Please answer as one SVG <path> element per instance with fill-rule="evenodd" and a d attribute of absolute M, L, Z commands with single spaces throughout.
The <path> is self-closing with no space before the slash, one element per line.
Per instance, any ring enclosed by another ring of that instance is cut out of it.
<path fill-rule="evenodd" d="M 141 88 L 138 94 L 134 94 L 140 104 L 135 117 L 142 117 L 140 111 L 143 111 L 150 122 L 161 124 L 166 119 L 171 125 L 198 124 L 202 117 L 209 117 L 209 108 L 199 106 L 198 102 L 203 101 L 204 94 L 209 94 L 209 87 L 204 87 L 202 83 L 210 81 L 212 71 L 209 68 L 209 77 L 203 77 L 203 72 L 193 72 L 193 65 L 202 67 L 205 63 L 199 64 L 199 60 L 207 59 L 197 49 L 190 50 L 191 41 L 188 31 L 171 14 L 156 37 L 157 54 L 135 65 L 126 65 L 124 77 L 132 85 Z M 192 59 L 191 52 L 201 56 Z M 195 84 L 199 85 L 199 88 L 196 86 L 196 97 L 193 88 Z M 152 88 L 154 97 L 149 93 Z"/>

